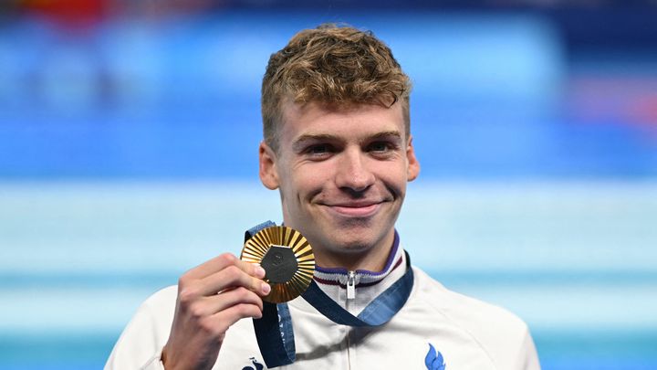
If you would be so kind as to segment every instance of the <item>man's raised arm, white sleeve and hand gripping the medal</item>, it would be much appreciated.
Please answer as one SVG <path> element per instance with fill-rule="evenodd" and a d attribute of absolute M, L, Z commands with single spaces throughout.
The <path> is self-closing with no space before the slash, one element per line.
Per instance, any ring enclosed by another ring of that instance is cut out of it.
<path fill-rule="evenodd" d="M 271 290 L 264 277 L 265 270 L 231 254 L 189 270 L 177 292 L 160 291 L 142 304 L 105 369 L 212 368 L 228 328 L 262 316 L 261 297 Z"/>

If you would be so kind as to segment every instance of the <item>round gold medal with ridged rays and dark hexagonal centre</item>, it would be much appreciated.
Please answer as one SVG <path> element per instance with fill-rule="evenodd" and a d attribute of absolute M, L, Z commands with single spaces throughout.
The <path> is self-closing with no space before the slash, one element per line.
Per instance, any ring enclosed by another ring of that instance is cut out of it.
<path fill-rule="evenodd" d="M 240 259 L 266 271 L 271 292 L 264 301 L 282 303 L 301 295 L 315 272 L 315 255 L 308 240 L 294 228 L 266 227 L 245 242 Z"/>

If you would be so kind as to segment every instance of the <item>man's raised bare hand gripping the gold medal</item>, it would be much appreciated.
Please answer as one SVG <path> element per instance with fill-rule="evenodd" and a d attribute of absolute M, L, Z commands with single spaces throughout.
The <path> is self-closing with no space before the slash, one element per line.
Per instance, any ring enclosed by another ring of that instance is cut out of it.
<path fill-rule="evenodd" d="M 162 349 L 166 369 L 210 369 L 225 332 L 240 319 L 262 317 L 262 296 L 271 291 L 265 270 L 225 253 L 187 271 L 178 281 L 178 300 L 169 341 Z"/>

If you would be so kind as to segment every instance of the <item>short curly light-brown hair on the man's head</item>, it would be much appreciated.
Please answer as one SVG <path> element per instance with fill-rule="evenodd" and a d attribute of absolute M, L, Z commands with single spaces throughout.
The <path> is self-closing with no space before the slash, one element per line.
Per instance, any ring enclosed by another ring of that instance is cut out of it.
<path fill-rule="evenodd" d="M 409 77 L 371 32 L 334 24 L 305 29 L 269 58 L 262 84 L 265 141 L 278 152 L 276 127 L 287 100 L 384 107 L 399 101 L 408 138 L 410 93 Z"/>

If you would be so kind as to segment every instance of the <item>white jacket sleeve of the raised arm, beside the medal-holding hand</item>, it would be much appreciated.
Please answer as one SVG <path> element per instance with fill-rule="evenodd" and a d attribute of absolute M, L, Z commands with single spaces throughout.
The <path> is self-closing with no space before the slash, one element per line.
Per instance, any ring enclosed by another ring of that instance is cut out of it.
<path fill-rule="evenodd" d="M 171 331 L 168 312 L 144 301 L 114 344 L 105 370 L 163 370 L 162 347 Z"/>

